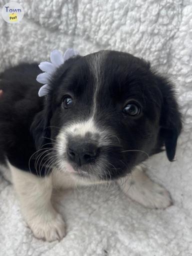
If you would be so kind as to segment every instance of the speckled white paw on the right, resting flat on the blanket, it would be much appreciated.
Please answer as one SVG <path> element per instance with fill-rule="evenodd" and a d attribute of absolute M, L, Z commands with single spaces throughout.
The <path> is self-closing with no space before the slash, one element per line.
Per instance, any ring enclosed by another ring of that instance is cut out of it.
<path fill-rule="evenodd" d="M 172 204 L 169 192 L 150 179 L 139 186 L 132 184 L 128 196 L 147 208 L 164 209 Z"/>

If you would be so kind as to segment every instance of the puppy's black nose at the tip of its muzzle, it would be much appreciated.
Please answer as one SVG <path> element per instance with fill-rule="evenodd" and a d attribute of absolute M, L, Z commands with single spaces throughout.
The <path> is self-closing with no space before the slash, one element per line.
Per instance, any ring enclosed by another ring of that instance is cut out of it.
<path fill-rule="evenodd" d="M 68 144 L 68 157 L 79 166 L 94 162 L 98 155 L 98 147 L 94 143 L 84 141 L 71 141 Z"/>

